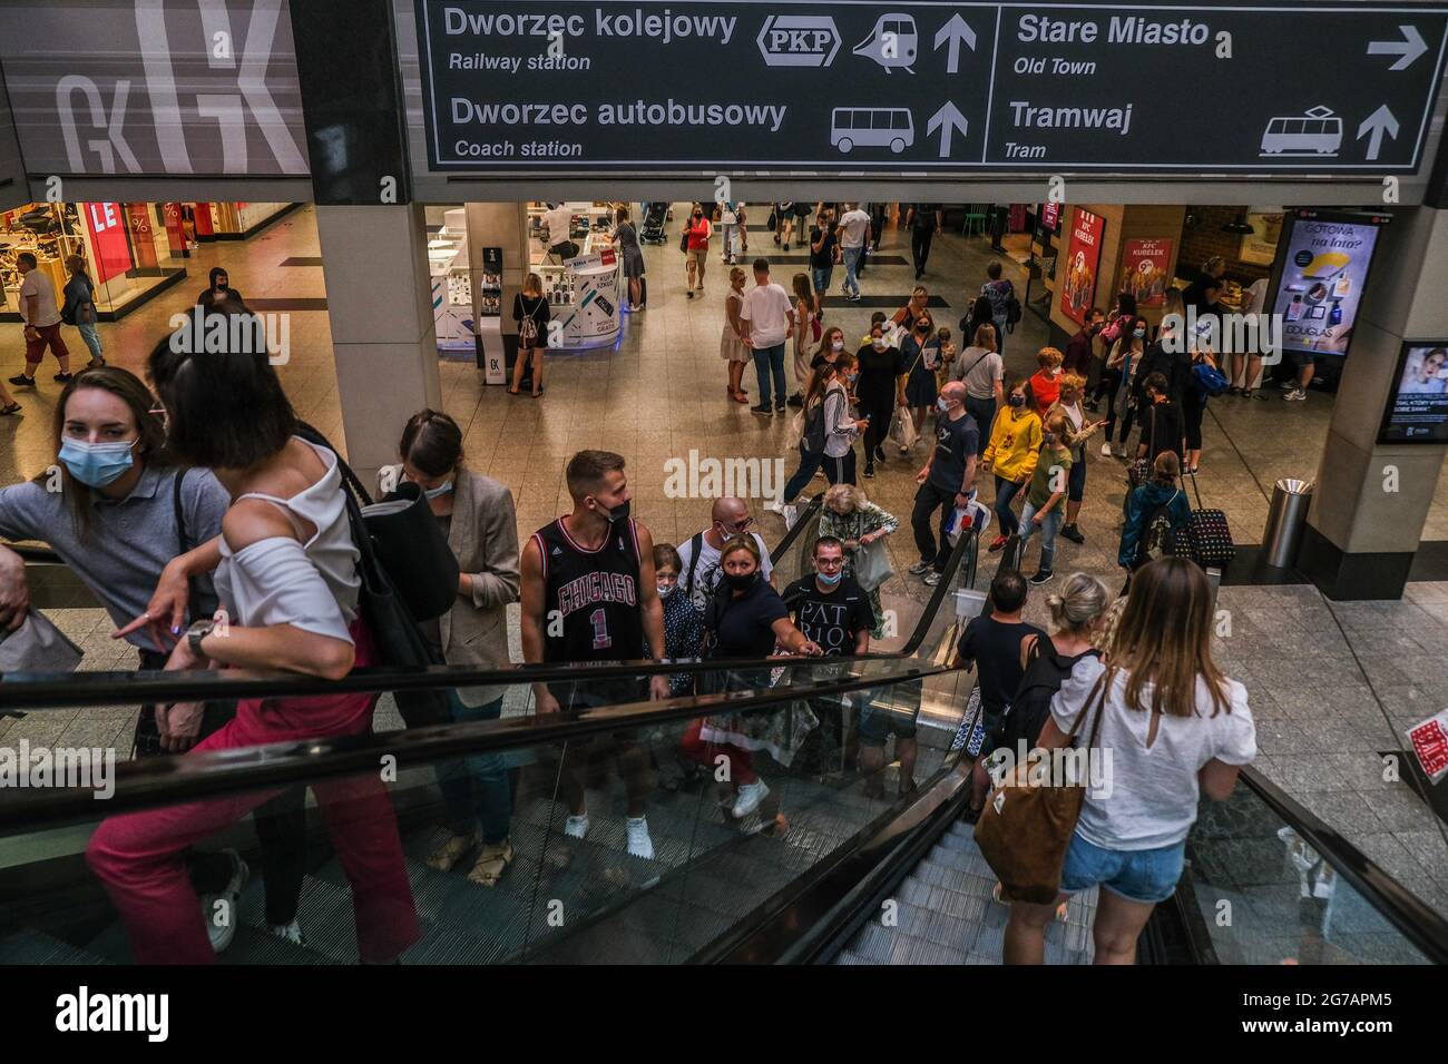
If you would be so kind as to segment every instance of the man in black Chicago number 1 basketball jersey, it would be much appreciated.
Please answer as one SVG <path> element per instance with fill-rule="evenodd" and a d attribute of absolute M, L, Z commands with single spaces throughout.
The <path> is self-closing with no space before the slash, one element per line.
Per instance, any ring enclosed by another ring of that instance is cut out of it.
<path fill-rule="evenodd" d="M 566 479 L 572 512 L 533 533 L 523 549 L 523 659 L 530 664 L 631 662 L 644 657 L 646 640 L 662 650 L 663 602 L 653 575 L 653 537 L 628 515 L 633 495 L 623 456 L 581 450 L 569 459 Z M 668 698 L 668 676 L 650 677 L 649 693 Z M 643 686 L 634 676 L 534 683 L 533 696 L 543 715 L 634 702 L 643 698 Z M 628 853 L 653 860 L 643 815 L 647 751 L 631 732 L 615 732 L 614 741 L 628 790 Z M 584 759 L 566 760 L 563 795 L 572 815 L 563 831 L 584 838 L 589 828 Z"/>

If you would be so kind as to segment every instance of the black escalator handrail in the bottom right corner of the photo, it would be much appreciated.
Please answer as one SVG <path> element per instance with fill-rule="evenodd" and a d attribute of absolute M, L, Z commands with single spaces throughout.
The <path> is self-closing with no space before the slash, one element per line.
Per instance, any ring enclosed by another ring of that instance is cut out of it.
<path fill-rule="evenodd" d="M 1448 964 L 1448 919 L 1442 913 L 1258 770 L 1244 767 L 1241 780 L 1423 957 L 1434 964 Z"/>

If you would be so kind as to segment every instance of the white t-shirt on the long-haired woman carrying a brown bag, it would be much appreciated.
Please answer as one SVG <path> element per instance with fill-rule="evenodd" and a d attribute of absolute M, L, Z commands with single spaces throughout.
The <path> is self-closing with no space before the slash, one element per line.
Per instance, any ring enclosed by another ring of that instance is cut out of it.
<path fill-rule="evenodd" d="M 1051 698 L 1051 717 L 1063 734 L 1070 732 L 1083 708 L 1089 709 L 1077 731 L 1079 746 L 1086 746 L 1095 725 L 1100 701 L 1096 677 L 1103 672 L 1100 659 L 1083 657 Z M 1196 776 L 1202 766 L 1213 759 L 1247 764 L 1257 756 L 1257 727 L 1247 708 L 1247 688 L 1237 680 L 1228 680 L 1226 686 L 1231 712 L 1224 708 L 1212 717 L 1212 696 L 1206 680 L 1199 677 L 1197 715 L 1163 714 L 1157 737 L 1147 747 L 1151 686 L 1141 693 L 1148 709 L 1128 708 L 1127 676 L 1118 673 L 1106 695 L 1095 744 L 1100 751 L 1099 769 L 1092 773 L 1076 834 L 1105 850 L 1157 850 L 1184 840 L 1196 822 L 1200 798 Z"/>

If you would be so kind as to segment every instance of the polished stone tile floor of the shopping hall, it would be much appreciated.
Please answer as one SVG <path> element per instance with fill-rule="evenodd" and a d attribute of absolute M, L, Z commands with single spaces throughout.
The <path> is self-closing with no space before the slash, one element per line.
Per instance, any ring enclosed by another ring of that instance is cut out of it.
<path fill-rule="evenodd" d="M 682 255 L 673 239 L 646 248 L 649 310 L 630 314 L 617 347 L 550 355 L 547 391 L 540 400 L 513 397 L 488 388 L 471 362 L 443 362 L 443 405 L 463 426 L 469 463 L 507 482 L 514 492 L 520 533 L 531 533 L 568 510 L 562 482 L 566 457 L 581 447 L 605 447 L 628 459 L 634 512 L 653 530 L 656 541 L 679 543 L 708 523 L 711 499 L 675 498 L 666 489 L 670 463 L 698 459 L 786 455 L 786 418 L 759 417 L 724 395 L 725 363 L 720 359 L 723 297 L 727 268 L 711 256 L 702 297 L 685 297 Z M 805 269 L 798 248 L 783 255 L 770 233 L 750 233 L 750 253 L 775 259 L 775 278 L 791 281 Z M 191 278 L 116 324 L 103 324 L 101 337 L 113 362 L 140 369 L 165 320 L 184 310 L 206 271 L 216 263 L 230 271 L 232 284 L 249 300 L 317 300 L 326 295 L 319 265 L 282 265 L 287 259 L 317 262 L 317 237 L 310 208 L 294 211 L 245 243 L 209 245 L 187 263 Z M 979 236 L 941 235 L 922 281 L 947 307 L 935 308 L 937 323 L 957 324 L 967 298 L 985 279 L 992 258 Z M 1024 287 L 1024 271 L 1008 261 L 1008 275 Z M 835 285 L 843 269 L 835 269 Z M 891 227 L 880 262 L 863 276 L 867 301 L 886 311 L 902 305 L 912 271 L 909 245 Z M 1038 294 L 1038 290 L 1032 295 Z M 835 297 L 838 290 L 835 291 Z M 873 297 L 873 298 L 872 298 Z M 285 304 L 282 304 L 285 305 Z M 875 307 L 827 303 L 825 324 L 841 324 L 850 342 L 862 337 Z M 298 413 L 342 443 L 330 330 L 323 310 L 291 311 L 292 358 L 281 368 L 282 382 Z M 959 329 L 956 330 L 959 333 Z M 1034 352 L 1047 339 L 1044 323 L 1027 313 L 1006 342 L 1008 369 L 1034 371 Z M 74 345 L 77 350 L 81 345 Z M 0 324 L 6 375 L 19 368 L 19 326 Z M 80 363 L 80 359 L 77 359 Z M 0 476 L 13 482 L 54 460 L 51 417 L 59 385 L 51 384 L 54 363 L 42 368 L 42 384 L 20 391 L 23 418 L 0 420 Z M 753 394 L 753 368 L 746 372 Z M 1199 476 L 1208 507 L 1226 511 L 1238 543 L 1257 543 L 1267 518 L 1271 484 L 1279 476 L 1313 476 L 1331 417 L 1332 397 L 1312 392 L 1306 402 L 1276 398 L 1248 402 L 1213 400 L 1205 423 L 1205 456 Z M 896 572 L 915 560 L 908 528 L 914 472 L 925 457 L 924 444 L 889 459 L 872 481 L 862 481 L 872 499 L 901 517 L 891 540 Z M 786 462 L 783 473 L 792 472 Z M 1082 512 L 1083 546 L 1057 543 L 1058 573 L 1076 569 L 1119 583 L 1115 567 L 1118 524 L 1125 475 L 1114 459 L 1092 456 L 1087 499 Z M 822 486 L 815 481 L 815 486 Z M 985 489 L 989 495 L 989 489 Z M 782 523 L 756 512 L 767 540 Z M 1426 540 L 1448 539 L 1448 478 L 1438 484 Z M 1034 547 L 1027 565 L 1034 567 Z M 980 582 L 989 580 L 995 557 L 982 562 Z M 891 592 L 924 596 L 912 578 L 896 578 Z M 1028 607 L 1044 618 L 1044 595 Z M 1219 598 L 1231 622 L 1219 638 L 1228 672 L 1248 685 L 1258 721 L 1258 767 L 1293 798 L 1344 832 L 1425 900 L 1448 912 L 1448 832 L 1406 782 L 1384 779 L 1380 757 L 1402 750 L 1403 731 L 1448 705 L 1448 583 L 1415 583 L 1400 602 L 1328 602 L 1310 586 L 1228 586 Z M 130 667 L 133 660 L 107 638 L 109 624 L 98 611 L 67 611 L 64 618 L 87 650 L 85 667 Z M 64 711 L 32 714 L 25 721 L 0 719 L 0 737 L 32 741 L 116 741 L 129 728 L 129 714 Z"/>

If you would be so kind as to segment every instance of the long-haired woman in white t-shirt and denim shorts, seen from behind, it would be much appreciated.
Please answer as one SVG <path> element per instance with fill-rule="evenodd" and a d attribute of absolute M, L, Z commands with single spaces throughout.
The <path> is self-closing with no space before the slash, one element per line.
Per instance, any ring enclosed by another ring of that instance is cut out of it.
<path fill-rule="evenodd" d="M 1040 964 L 1057 903 L 1093 886 L 1096 964 L 1132 964 L 1151 911 L 1176 892 L 1200 792 L 1226 801 L 1257 756 L 1247 689 L 1212 660 L 1212 588 L 1196 563 L 1137 573 L 1105 663 L 1076 663 L 1037 746 L 1069 747 L 1073 728 L 1092 747 L 1090 785 L 1061 895 L 1011 905 L 1008 964 Z"/>

